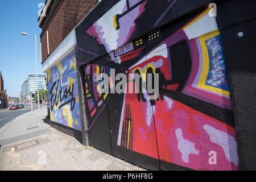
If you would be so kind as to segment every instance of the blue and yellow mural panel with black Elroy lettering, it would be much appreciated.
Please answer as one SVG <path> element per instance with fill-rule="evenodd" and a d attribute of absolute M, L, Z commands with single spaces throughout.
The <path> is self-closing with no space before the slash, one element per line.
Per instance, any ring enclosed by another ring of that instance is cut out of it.
<path fill-rule="evenodd" d="M 52 122 L 81 130 L 75 51 L 48 71 L 49 110 Z"/>

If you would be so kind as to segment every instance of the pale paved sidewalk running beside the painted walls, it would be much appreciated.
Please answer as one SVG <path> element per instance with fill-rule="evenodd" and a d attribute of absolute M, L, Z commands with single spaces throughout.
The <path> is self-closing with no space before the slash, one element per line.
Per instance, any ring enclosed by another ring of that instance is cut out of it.
<path fill-rule="evenodd" d="M 0 171 L 144 171 L 53 129 L 46 107 L 0 130 Z"/>

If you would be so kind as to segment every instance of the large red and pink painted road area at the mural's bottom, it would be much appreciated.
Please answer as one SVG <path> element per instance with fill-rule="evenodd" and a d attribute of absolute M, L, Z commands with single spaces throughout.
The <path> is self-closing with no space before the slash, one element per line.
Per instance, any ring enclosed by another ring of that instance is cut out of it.
<path fill-rule="evenodd" d="M 168 97 L 164 97 L 164 101 L 156 101 L 154 107 L 155 123 L 152 115 L 148 115 L 147 113 L 147 103 L 142 101 L 138 102 L 137 94 L 126 94 L 125 104 L 131 105 L 133 151 L 158 159 L 156 149 L 158 148 L 160 160 L 169 163 L 175 163 L 197 170 L 222 169 L 221 167 L 210 166 L 208 161 L 204 162 L 202 160 L 203 156 L 208 156 L 208 150 L 214 149 L 220 152 L 222 163 L 224 163 L 225 166 L 232 165 L 225 158 L 222 148 L 209 140 L 203 126 L 208 123 L 208 125 L 215 127 L 217 130 L 228 132 L 229 135 L 235 137 L 233 127 Z M 149 126 L 147 121 L 151 121 Z M 214 122 L 220 125 L 216 125 Z M 189 155 L 189 163 L 185 163 L 181 160 L 181 153 L 177 150 L 176 129 L 182 129 L 184 139 L 195 143 L 196 150 L 200 151 L 199 155 Z M 230 132 L 230 130 L 233 130 L 234 133 Z M 156 145 L 156 138 L 158 139 L 158 146 Z M 209 146 L 211 147 L 208 148 Z M 198 166 L 200 166 L 200 168 Z M 234 170 L 235 169 L 236 167 Z"/>

